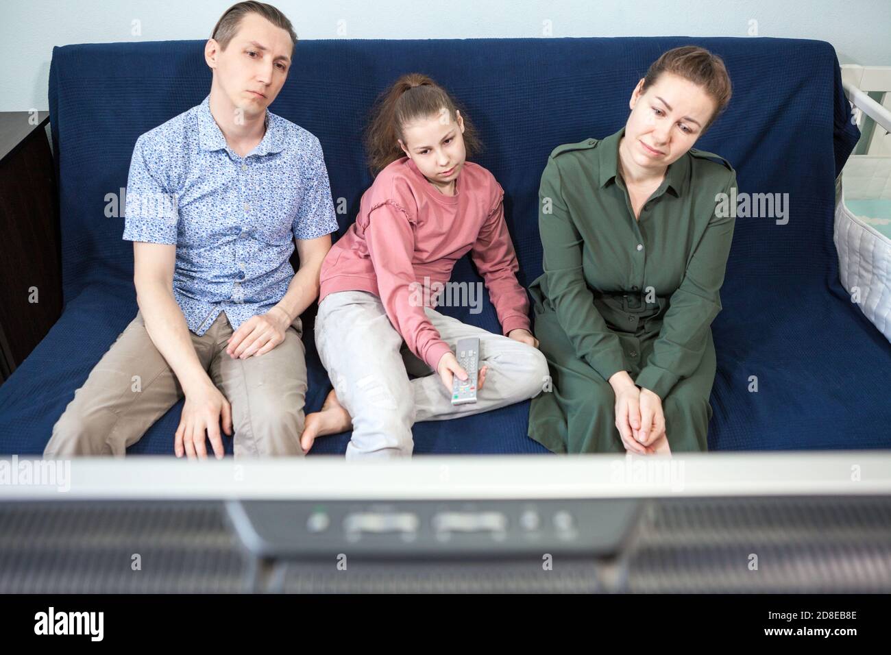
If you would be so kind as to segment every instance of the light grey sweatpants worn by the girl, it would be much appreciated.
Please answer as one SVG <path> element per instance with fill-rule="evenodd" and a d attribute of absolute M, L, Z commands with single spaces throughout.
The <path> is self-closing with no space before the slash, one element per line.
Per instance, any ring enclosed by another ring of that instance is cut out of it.
<path fill-rule="evenodd" d="M 429 307 L 425 312 L 453 349 L 463 337 L 479 338 L 479 366 L 488 368 L 476 403 L 452 405 L 452 395 L 440 377 L 405 347 L 373 293 L 338 291 L 319 305 L 315 346 L 340 404 L 353 417 L 347 459 L 409 457 L 415 422 L 487 412 L 535 397 L 544 389 L 548 364 L 536 348 Z M 409 373 L 422 377 L 409 380 Z"/>

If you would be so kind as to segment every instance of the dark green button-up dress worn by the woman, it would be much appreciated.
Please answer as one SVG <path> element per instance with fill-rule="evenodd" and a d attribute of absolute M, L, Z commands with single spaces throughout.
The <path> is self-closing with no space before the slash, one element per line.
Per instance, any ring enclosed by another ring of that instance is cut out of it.
<path fill-rule="evenodd" d="M 736 173 L 691 149 L 635 220 L 617 173 L 623 135 L 561 145 L 542 175 L 544 274 L 530 291 L 552 383 L 532 400 L 528 435 L 555 453 L 624 453 L 608 380 L 625 370 L 661 398 L 672 451 L 705 451 L 735 223 L 717 194 L 731 197 Z"/>

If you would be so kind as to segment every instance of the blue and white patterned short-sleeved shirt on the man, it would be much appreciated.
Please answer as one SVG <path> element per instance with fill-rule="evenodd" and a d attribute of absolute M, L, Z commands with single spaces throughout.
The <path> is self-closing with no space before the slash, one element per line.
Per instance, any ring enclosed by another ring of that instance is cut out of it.
<path fill-rule="evenodd" d="M 176 243 L 174 296 L 198 335 L 222 311 L 233 330 L 266 313 L 294 276 L 294 239 L 338 228 L 314 135 L 266 110 L 266 135 L 240 157 L 209 102 L 136 140 L 125 204 L 124 239 Z"/>

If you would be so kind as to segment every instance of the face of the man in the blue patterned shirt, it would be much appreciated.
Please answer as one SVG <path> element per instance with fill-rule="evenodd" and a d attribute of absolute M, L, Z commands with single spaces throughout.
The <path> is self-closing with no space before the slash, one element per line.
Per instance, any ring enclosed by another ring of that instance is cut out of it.
<path fill-rule="evenodd" d="M 247 116 L 265 113 L 282 90 L 290 69 L 293 43 L 288 30 L 277 28 L 257 13 L 241 19 L 238 32 L 219 49 L 214 39 L 205 47 L 205 59 L 214 81 L 236 110 Z"/>

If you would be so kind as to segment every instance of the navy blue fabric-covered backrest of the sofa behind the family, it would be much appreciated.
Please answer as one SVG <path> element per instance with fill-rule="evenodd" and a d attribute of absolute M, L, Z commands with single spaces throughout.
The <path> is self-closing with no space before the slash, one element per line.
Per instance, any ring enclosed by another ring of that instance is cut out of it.
<path fill-rule="evenodd" d="M 298 43 L 288 81 L 271 110 L 321 140 L 335 203 L 345 199 L 342 231 L 355 219 L 359 199 L 371 184 L 361 135 L 372 102 L 405 72 L 429 74 L 453 92 L 478 126 L 486 149 L 477 161 L 503 185 L 520 282 L 528 285 L 542 269 L 536 203 L 548 154 L 560 143 L 606 136 L 622 127 L 630 94 L 650 63 L 669 48 L 691 43 L 721 55 L 733 84 L 730 106 L 696 147 L 730 160 L 741 192 L 789 193 L 786 225 L 773 218 L 738 218 L 728 280 L 822 276 L 837 270 L 833 182 L 859 133 L 848 120 L 835 51 L 822 41 L 305 41 Z M 105 215 L 107 194 L 126 187 L 137 136 L 208 94 L 211 77 L 203 44 L 53 50 L 50 108 L 66 301 L 92 282 L 132 290 L 132 246 L 121 240 L 123 218 Z M 466 262 L 455 271 L 455 279 L 461 278 L 478 279 Z"/>

